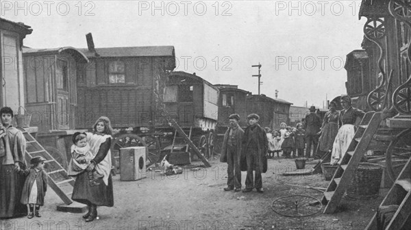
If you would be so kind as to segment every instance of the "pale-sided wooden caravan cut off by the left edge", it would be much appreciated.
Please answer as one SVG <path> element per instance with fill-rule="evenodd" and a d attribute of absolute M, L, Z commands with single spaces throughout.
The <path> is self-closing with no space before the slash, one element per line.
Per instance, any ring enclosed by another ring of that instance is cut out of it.
<path fill-rule="evenodd" d="M 15 113 L 25 106 L 22 47 L 32 31 L 28 25 L 0 18 L 0 107 L 11 107 Z"/>

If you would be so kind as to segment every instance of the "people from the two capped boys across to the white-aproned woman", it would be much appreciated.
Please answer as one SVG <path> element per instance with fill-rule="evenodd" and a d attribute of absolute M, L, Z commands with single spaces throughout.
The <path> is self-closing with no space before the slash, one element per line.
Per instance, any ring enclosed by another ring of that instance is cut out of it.
<path fill-rule="evenodd" d="M 338 111 L 340 104 L 343 110 Z M 329 111 L 322 122 L 314 106 L 309 110 L 303 123 L 297 123 L 295 127 L 281 123 L 280 129 L 275 131 L 260 127 L 258 114 L 247 116 L 248 126 L 244 131 L 238 125 L 240 116 L 230 115 L 220 158 L 228 164 L 227 188 L 224 190 L 241 191 L 241 171 L 247 171 L 242 192 L 251 192 L 253 188 L 263 192 L 261 173 L 267 170 L 267 158 L 274 157 L 275 153 L 277 157 L 282 152 L 286 158 L 305 156 L 315 159 L 331 154 L 330 163 L 340 164 L 355 134 L 356 120 L 362 118 L 364 112 L 352 107 L 347 95 L 341 96 L 340 101 L 329 103 Z"/>

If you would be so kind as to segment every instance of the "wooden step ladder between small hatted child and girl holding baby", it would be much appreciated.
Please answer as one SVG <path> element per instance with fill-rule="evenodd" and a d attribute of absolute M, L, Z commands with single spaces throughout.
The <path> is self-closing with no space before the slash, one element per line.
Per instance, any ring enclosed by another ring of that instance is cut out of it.
<path fill-rule="evenodd" d="M 41 156 L 46 159 L 47 179 L 50 188 L 62 199 L 62 201 L 69 205 L 73 203 L 71 194 L 73 193 L 74 179 L 67 175 L 67 171 L 48 153 L 34 137 L 25 131 L 25 129 L 18 128 L 23 132 L 26 140 L 25 159 L 27 165 L 33 157 Z"/>

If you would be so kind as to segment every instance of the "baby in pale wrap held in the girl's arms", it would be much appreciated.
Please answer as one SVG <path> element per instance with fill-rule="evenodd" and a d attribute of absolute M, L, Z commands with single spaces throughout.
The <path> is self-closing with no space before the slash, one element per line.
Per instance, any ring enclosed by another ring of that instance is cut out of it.
<path fill-rule="evenodd" d="M 76 132 L 72 137 L 73 145 L 71 146 L 71 162 L 67 174 L 69 176 L 77 176 L 80 172 L 86 170 L 92 160 L 90 144 L 87 142 L 87 134 Z M 97 182 L 103 175 L 99 174 L 95 169 L 88 171 L 88 181 L 90 186 L 99 186 Z"/>

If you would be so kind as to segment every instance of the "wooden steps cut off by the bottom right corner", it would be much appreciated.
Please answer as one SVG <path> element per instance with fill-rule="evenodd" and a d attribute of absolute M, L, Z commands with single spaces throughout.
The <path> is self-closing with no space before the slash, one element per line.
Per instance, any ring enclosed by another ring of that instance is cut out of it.
<path fill-rule="evenodd" d="M 382 223 L 377 220 L 377 216 L 379 211 L 388 205 L 398 205 L 398 209 L 384 230 L 409 229 L 411 225 L 411 158 L 408 159 L 403 170 L 399 173 L 395 183 L 379 205 L 378 211 L 375 212 L 365 230 L 383 229 Z"/>

